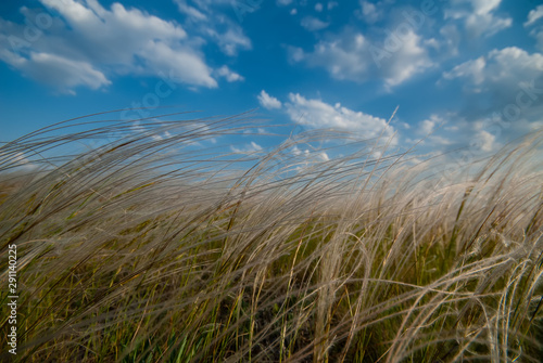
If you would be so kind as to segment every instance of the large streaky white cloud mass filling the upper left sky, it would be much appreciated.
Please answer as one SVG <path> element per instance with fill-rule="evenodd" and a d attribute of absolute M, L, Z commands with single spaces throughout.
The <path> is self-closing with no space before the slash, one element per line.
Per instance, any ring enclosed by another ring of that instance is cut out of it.
<path fill-rule="evenodd" d="M 179 10 L 194 21 L 190 23 L 190 36 L 174 21 L 118 2 L 106 9 L 97 0 L 39 1 L 60 17 L 39 34 L 39 41 L 33 42 L 24 40 L 28 38 L 24 24 L 0 18 L 0 60 L 64 92 L 73 93 L 77 87 L 99 89 L 110 85 L 114 76 L 128 74 L 167 74 L 187 86 L 216 88 L 212 75 L 220 76 L 224 70 L 217 73 L 206 64 L 202 44 L 211 40 L 229 55 L 251 47 L 241 30 L 226 23 L 222 29 L 195 30 L 194 22 L 212 18 L 205 11 L 211 7 L 206 0 L 198 1 L 200 8 L 176 0 Z M 21 12 L 27 18 L 35 17 L 24 7 Z M 226 77 L 236 78 L 235 74 Z"/>

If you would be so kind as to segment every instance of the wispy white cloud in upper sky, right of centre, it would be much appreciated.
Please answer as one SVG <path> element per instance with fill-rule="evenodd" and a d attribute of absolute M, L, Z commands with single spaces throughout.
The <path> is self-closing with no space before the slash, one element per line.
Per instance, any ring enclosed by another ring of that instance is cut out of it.
<path fill-rule="evenodd" d="M 319 41 L 312 52 L 290 49 L 293 62 L 324 67 L 334 79 L 358 82 L 371 76 L 384 79 L 387 88 L 395 87 L 433 66 L 422 39 L 413 30 L 397 38 L 394 49 L 387 40 L 372 42 L 364 35 L 345 29 L 340 35 Z"/>

